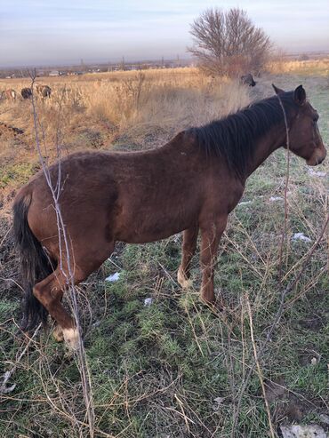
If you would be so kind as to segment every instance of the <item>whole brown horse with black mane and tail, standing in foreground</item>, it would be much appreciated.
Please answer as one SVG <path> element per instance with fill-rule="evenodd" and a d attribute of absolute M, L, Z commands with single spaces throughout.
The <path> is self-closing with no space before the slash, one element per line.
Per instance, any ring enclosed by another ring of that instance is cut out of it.
<path fill-rule="evenodd" d="M 13 210 L 27 280 L 24 330 L 49 312 L 58 323 L 57 336 L 76 346 L 74 321 L 61 305 L 68 282 L 84 281 L 108 259 L 116 241 L 147 243 L 183 230 L 178 282 L 183 288 L 189 285 L 200 230 L 201 297 L 213 303 L 214 261 L 229 212 L 243 195 L 248 176 L 286 145 L 280 100 L 293 153 L 311 166 L 325 159 L 317 111 L 302 86 L 293 92 L 274 88 L 277 96 L 182 131 L 155 150 L 76 153 L 53 164 L 49 176 L 53 191 L 60 194 L 69 257 L 44 173 L 22 187 Z"/>

